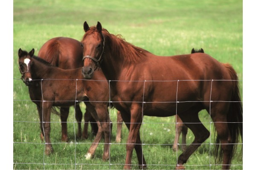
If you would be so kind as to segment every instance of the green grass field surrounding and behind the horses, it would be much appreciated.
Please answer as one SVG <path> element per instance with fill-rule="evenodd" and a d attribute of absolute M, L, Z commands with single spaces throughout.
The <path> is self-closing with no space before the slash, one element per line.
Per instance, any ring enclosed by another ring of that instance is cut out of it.
<path fill-rule="evenodd" d="M 93 141 L 75 140 L 77 124 L 74 109 L 68 118 L 69 143 L 61 142 L 60 118 L 51 116 L 51 140 L 54 153 L 44 156 L 44 142 L 40 140 L 37 109 L 30 101 L 28 88 L 20 81 L 17 63 L 19 48 L 38 54 L 41 46 L 52 37 L 72 37 L 81 40 L 83 23 L 96 25 L 97 21 L 112 34 L 121 34 L 128 42 L 156 55 L 187 54 L 192 48 L 204 52 L 222 63 L 230 63 L 243 80 L 243 18 L 241 0 L 14 0 L 13 3 L 13 169 L 122 169 L 125 163 L 125 143 L 128 130 L 122 128 L 121 144 L 116 135 L 116 110 L 111 110 L 113 121 L 111 158 L 102 161 L 103 144 L 99 144 L 95 157 L 85 160 L 84 155 Z M 240 81 L 241 98 L 243 83 Z M 81 104 L 82 110 L 85 106 Z M 192 154 L 186 169 L 221 169 L 214 165 L 214 127 L 209 115 L 199 113 L 201 121 L 211 129 L 211 138 Z M 172 151 L 175 136 L 174 117 L 144 117 L 140 133 L 143 134 L 143 152 L 148 169 L 174 169 L 177 156 Z M 74 132 L 75 130 L 75 132 Z M 189 130 L 187 143 L 194 139 Z M 103 142 L 103 141 L 102 141 Z M 242 143 L 242 142 L 241 142 Z M 241 144 L 231 169 L 243 169 Z M 137 169 L 134 152 L 133 169 Z M 212 164 L 210 167 L 209 164 Z"/>

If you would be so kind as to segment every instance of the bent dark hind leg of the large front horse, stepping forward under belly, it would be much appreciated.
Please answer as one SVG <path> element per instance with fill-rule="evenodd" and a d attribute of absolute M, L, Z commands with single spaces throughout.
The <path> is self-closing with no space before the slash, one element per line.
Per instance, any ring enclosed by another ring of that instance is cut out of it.
<path fill-rule="evenodd" d="M 186 112 L 179 115 L 183 122 L 186 122 L 186 126 L 192 131 L 195 136 L 194 141 L 189 147 L 186 148 L 183 153 L 178 158 L 177 161 L 177 170 L 185 169 L 183 164 L 189 159 L 192 153 L 197 150 L 197 148 L 209 137 L 209 131 L 204 127 L 201 121 L 198 118 L 198 110 L 194 110 L 192 112 Z"/>

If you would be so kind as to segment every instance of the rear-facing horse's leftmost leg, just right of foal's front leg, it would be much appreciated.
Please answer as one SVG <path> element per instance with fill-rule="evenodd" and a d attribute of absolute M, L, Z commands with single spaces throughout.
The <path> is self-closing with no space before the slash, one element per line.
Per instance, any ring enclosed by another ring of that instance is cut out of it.
<path fill-rule="evenodd" d="M 69 107 L 61 107 L 61 141 L 68 142 L 67 137 L 67 117 L 69 115 Z"/>

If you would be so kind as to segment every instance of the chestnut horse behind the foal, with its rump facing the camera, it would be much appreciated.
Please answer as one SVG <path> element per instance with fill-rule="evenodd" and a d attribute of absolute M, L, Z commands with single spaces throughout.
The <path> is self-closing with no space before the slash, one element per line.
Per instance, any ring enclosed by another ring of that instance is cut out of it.
<path fill-rule="evenodd" d="M 48 40 L 38 52 L 38 57 L 43 58 L 45 61 L 51 63 L 53 66 L 58 66 L 61 69 L 76 69 L 83 66 L 81 58 L 83 57 L 83 49 L 81 43 L 70 37 L 54 37 Z M 61 128 L 62 128 L 62 141 L 67 139 L 67 116 L 69 114 L 69 107 L 61 107 Z M 96 135 L 98 126 L 86 108 L 84 113 L 84 130 L 81 135 L 81 120 L 82 112 L 79 105 L 75 107 L 76 120 L 78 123 L 78 137 L 88 137 L 88 122 L 91 122 L 92 133 Z M 92 123 L 93 122 L 93 123 Z M 117 112 L 117 133 L 116 142 L 121 141 L 121 128 L 122 117 L 120 112 Z"/>

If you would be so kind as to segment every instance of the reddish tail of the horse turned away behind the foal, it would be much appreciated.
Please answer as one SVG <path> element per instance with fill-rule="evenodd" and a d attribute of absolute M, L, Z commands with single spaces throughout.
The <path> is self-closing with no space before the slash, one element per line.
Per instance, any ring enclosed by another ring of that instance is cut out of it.
<path fill-rule="evenodd" d="M 45 60 L 51 63 L 53 66 L 58 67 L 60 56 L 60 44 L 58 41 L 53 41 L 49 44 L 47 52 L 45 54 Z"/>

